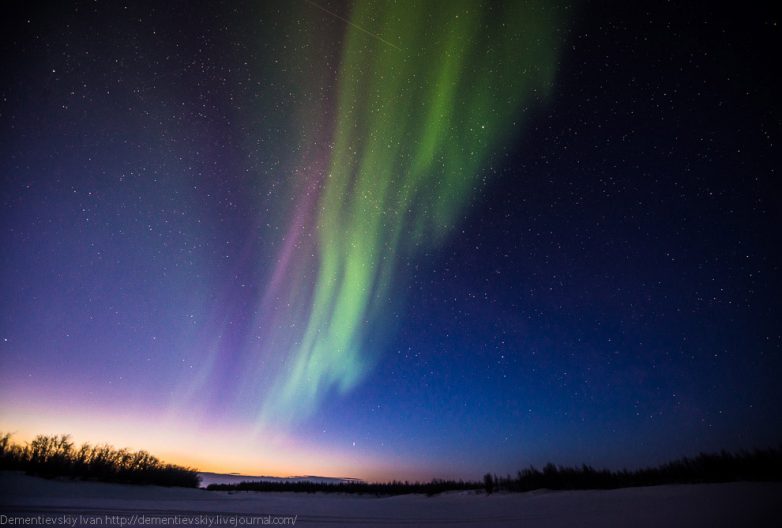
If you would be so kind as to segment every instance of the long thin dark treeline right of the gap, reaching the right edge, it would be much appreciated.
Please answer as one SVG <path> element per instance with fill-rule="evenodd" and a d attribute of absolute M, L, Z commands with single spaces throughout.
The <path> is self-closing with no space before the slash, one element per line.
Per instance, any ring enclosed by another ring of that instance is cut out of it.
<path fill-rule="evenodd" d="M 614 489 L 661 484 L 780 480 L 782 480 L 782 450 L 765 449 L 739 453 L 725 451 L 717 454 L 701 453 L 694 458 L 681 458 L 655 468 L 634 471 L 597 470 L 586 465 L 564 467 L 547 464 L 542 470 L 530 467 L 519 471 L 515 477 L 510 475 L 497 477 L 487 473 L 482 482 L 463 480 L 433 480 L 423 483 L 252 481 L 238 484 L 210 484 L 207 489 L 215 491 L 293 491 L 371 495 L 420 493 L 435 495 L 445 491 L 482 490 L 486 493 L 494 493 L 536 489 Z"/>

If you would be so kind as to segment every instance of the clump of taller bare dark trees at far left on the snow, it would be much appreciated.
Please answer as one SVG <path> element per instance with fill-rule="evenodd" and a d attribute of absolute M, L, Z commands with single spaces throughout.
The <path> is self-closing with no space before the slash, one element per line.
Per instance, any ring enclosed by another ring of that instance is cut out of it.
<path fill-rule="evenodd" d="M 197 470 L 166 464 L 145 451 L 82 444 L 69 435 L 38 435 L 18 445 L 10 434 L 0 435 L 0 469 L 24 471 L 40 477 L 68 477 L 101 482 L 198 487 Z"/>

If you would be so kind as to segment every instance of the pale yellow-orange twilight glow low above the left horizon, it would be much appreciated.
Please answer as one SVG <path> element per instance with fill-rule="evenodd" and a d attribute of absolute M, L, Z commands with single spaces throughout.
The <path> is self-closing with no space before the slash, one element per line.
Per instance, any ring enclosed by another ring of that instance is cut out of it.
<path fill-rule="evenodd" d="M 63 411 L 29 401 L 3 400 L 0 432 L 11 433 L 16 443 L 29 442 L 39 434 L 68 434 L 76 445 L 110 444 L 144 450 L 164 462 L 198 471 L 248 476 L 318 475 L 386 481 L 415 478 L 421 470 L 398 461 L 383 463 L 366 453 L 327 450 L 282 434 L 253 436 L 237 426 L 194 425 L 164 412 Z"/>

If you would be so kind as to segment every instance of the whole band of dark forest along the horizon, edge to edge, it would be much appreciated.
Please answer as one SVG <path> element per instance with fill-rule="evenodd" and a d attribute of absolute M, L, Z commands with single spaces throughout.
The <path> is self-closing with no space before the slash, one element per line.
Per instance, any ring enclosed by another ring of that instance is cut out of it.
<path fill-rule="evenodd" d="M 108 445 L 83 444 L 76 448 L 68 435 L 36 436 L 20 446 L 11 435 L 0 434 L 0 470 L 24 471 L 46 478 L 66 477 L 127 484 L 198 487 L 196 469 L 166 464 L 145 451 L 128 451 Z M 248 481 L 210 484 L 214 491 L 289 491 L 306 493 L 358 493 L 371 495 L 436 495 L 446 491 L 482 493 L 523 492 L 537 489 L 614 489 L 661 484 L 700 484 L 734 481 L 782 481 L 782 448 L 737 453 L 705 454 L 681 458 L 653 468 L 610 471 L 590 466 L 564 467 L 547 464 L 530 467 L 515 476 L 487 473 L 482 481 L 432 480 L 430 482 L 370 483 Z"/>

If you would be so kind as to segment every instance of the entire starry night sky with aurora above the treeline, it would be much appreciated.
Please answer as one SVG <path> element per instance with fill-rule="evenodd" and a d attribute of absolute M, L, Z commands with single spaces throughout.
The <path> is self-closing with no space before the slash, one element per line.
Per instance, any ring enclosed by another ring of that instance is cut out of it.
<path fill-rule="evenodd" d="M 0 430 L 372 480 L 782 442 L 779 12 L 16 2 Z"/>

